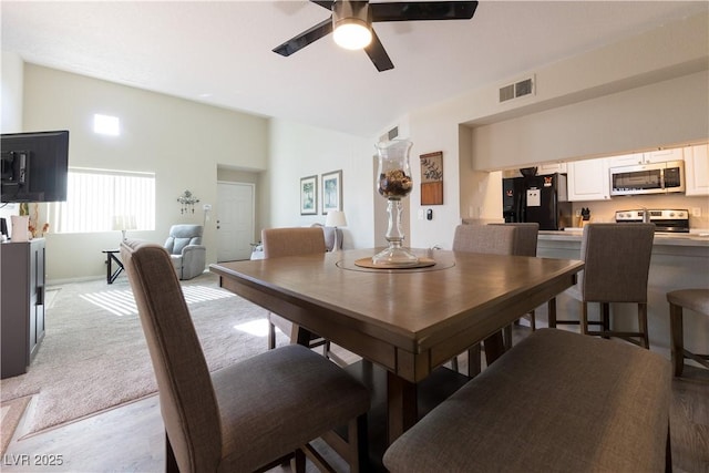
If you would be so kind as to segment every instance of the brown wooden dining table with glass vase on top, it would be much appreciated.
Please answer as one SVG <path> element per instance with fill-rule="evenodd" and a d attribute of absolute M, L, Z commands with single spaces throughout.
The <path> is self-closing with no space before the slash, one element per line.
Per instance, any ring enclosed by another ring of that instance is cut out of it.
<path fill-rule="evenodd" d="M 315 332 L 382 367 L 387 443 L 417 422 L 419 383 L 574 285 L 584 266 L 448 250 L 414 250 L 435 261 L 425 268 L 356 264 L 378 250 L 219 263 L 209 269 L 223 288 L 295 322 L 301 342 Z"/>

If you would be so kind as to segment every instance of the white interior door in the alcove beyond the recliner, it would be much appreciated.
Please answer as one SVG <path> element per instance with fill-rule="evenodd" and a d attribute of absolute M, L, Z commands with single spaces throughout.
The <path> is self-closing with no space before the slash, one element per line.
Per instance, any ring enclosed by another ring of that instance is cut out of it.
<path fill-rule="evenodd" d="M 217 261 L 251 257 L 254 184 L 217 183 Z"/>

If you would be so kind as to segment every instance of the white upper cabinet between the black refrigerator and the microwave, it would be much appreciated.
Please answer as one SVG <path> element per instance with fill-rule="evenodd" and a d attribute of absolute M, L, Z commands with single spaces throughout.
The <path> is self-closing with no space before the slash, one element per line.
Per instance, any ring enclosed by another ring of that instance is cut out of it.
<path fill-rule="evenodd" d="M 566 172 L 571 202 L 610 198 L 610 177 L 606 158 L 566 163 Z"/>

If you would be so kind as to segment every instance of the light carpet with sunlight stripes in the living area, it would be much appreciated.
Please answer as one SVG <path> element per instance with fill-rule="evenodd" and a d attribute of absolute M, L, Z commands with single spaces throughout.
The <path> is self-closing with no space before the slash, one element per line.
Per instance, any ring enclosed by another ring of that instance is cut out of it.
<path fill-rule="evenodd" d="M 183 281 L 183 290 L 210 371 L 266 351 L 266 310 L 218 288 L 212 274 Z M 156 390 L 130 286 L 121 277 L 111 286 L 68 284 L 54 294 L 37 357 L 25 374 L 0 382 L 0 401 L 37 394 L 23 429 L 29 434 Z"/>

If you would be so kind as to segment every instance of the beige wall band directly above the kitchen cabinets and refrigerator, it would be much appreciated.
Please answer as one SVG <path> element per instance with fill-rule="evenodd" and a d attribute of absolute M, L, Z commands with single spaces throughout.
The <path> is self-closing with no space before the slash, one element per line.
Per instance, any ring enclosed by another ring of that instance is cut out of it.
<path fill-rule="evenodd" d="M 706 142 L 707 71 L 473 127 L 476 169 L 524 167 Z"/>

